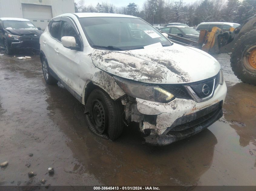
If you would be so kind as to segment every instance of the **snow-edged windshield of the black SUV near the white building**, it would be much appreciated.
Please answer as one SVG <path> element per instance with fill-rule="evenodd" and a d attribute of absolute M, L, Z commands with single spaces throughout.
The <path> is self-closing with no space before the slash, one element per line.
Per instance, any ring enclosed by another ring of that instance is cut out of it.
<path fill-rule="evenodd" d="M 37 29 L 29 21 L 3 21 L 5 29 Z"/>

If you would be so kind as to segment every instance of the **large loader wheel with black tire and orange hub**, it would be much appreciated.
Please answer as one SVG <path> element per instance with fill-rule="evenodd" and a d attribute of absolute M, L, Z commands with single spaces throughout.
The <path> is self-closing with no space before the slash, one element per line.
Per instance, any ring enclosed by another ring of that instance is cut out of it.
<path fill-rule="evenodd" d="M 256 85 L 256 29 L 237 40 L 230 62 L 234 74 L 241 81 Z"/>

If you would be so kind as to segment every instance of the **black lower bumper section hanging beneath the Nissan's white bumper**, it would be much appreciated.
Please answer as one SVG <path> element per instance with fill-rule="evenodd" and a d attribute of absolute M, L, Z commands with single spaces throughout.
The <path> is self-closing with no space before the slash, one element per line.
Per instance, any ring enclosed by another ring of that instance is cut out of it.
<path fill-rule="evenodd" d="M 176 119 L 173 125 L 161 135 L 144 137 L 145 142 L 150 145 L 164 146 L 195 135 L 222 117 L 222 105 L 223 101 L 190 115 L 182 116 Z"/>

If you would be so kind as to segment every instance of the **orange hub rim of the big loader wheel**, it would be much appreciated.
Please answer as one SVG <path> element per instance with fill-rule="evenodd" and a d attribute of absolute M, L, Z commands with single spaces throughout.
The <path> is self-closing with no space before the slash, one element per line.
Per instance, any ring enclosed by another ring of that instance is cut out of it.
<path fill-rule="evenodd" d="M 244 52 L 243 64 L 247 70 L 256 73 L 256 45 Z"/>

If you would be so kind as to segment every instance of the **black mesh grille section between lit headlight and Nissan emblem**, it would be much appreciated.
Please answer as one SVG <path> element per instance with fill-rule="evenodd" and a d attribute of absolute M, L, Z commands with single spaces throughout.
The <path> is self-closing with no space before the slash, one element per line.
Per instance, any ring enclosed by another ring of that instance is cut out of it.
<path fill-rule="evenodd" d="M 192 99 L 182 84 L 160 84 L 162 88 L 169 91 L 177 98 Z"/>

